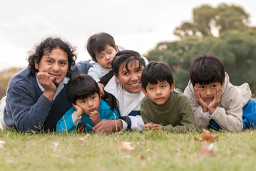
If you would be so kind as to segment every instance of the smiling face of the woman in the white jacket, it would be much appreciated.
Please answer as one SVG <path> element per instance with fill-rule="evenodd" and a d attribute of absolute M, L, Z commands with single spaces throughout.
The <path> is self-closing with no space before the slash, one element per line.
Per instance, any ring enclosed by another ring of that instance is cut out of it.
<path fill-rule="evenodd" d="M 139 61 L 130 61 L 126 68 L 126 63 L 123 63 L 116 76 L 116 81 L 121 83 L 123 88 L 130 93 L 140 93 L 141 90 L 141 73 L 144 66 L 140 65 Z"/>

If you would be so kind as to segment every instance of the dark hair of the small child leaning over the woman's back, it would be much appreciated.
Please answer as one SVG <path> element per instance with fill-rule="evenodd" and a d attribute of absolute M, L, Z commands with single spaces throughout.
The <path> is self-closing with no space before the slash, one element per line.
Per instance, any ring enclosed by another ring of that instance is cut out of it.
<path fill-rule="evenodd" d="M 93 34 L 93 36 L 88 38 L 86 48 L 91 58 L 93 58 L 93 61 L 97 62 L 96 53 L 101 53 L 101 51 L 104 51 L 106 46 L 111 46 L 116 49 L 115 40 L 109 33 L 101 32 Z"/>

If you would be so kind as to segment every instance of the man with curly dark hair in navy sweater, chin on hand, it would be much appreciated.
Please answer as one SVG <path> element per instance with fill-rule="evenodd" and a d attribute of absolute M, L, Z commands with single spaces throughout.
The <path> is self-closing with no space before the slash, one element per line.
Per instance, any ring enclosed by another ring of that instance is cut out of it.
<path fill-rule="evenodd" d="M 66 84 L 75 65 L 75 48 L 61 38 L 46 38 L 29 52 L 28 61 L 29 67 L 9 82 L 2 129 L 14 128 L 21 133 L 56 130 L 56 123 L 72 106 Z"/>

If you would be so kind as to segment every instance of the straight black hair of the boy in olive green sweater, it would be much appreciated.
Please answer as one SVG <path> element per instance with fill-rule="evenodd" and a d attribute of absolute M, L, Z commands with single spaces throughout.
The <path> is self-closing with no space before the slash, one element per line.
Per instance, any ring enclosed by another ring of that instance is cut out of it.
<path fill-rule="evenodd" d="M 148 83 L 157 84 L 158 81 L 167 81 L 170 86 L 173 84 L 173 72 L 163 62 L 150 61 L 141 73 L 141 83 L 145 91 Z"/>

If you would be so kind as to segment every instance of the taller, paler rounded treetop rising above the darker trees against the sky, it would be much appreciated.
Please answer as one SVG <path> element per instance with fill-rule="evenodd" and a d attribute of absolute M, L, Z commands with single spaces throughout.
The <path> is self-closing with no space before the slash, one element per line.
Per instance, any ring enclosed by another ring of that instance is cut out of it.
<path fill-rule="evenodd" d="M 181 40 L 218 36 L 229 30 L 245 31 L 249 28 L 249 14 L 240 6 L 220 4 L 217 8 L 202 5 L 193 9 L 193 21 L 183 22 L 174 34 Z"/>

